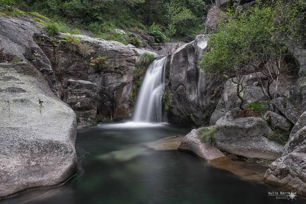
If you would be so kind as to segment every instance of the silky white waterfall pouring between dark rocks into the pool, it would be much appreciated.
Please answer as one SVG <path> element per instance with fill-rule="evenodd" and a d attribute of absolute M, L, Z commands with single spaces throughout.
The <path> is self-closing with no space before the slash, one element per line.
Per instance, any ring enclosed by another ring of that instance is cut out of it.
<path fill-rule="evenodd" d="M 167 57 L 154 60 L 148 67 L 136 101 L 135 122 L 165 122 L 163 95 Z"/>

